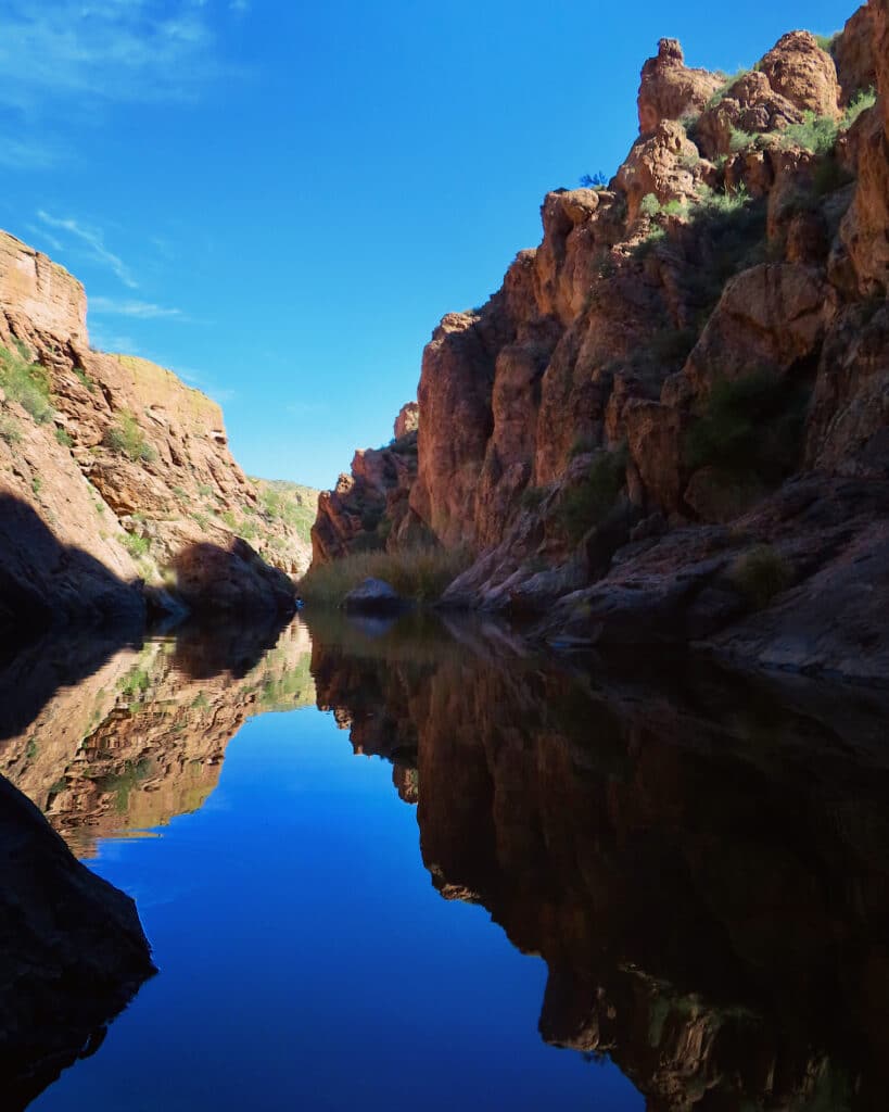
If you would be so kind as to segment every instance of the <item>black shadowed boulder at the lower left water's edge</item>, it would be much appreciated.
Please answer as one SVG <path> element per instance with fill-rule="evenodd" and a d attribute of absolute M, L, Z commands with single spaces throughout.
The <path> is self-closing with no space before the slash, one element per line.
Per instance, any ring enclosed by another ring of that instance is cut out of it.
<path fill-rule="evenodd" d="M 132 900 L 80 864 L 0 777 L 0 1090 L 23 1109 L 152 975 Z"/>

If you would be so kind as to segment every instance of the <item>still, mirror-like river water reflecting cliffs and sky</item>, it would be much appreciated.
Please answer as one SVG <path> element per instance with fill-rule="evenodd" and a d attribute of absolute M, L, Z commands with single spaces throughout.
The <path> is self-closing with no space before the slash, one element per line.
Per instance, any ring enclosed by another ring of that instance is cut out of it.
<path fill-rule="evenodd" d="M 878 694 L 411 619 L 41 653 L 0 773 L 159 973 L 33 1110 L 885 1106 Z"/>

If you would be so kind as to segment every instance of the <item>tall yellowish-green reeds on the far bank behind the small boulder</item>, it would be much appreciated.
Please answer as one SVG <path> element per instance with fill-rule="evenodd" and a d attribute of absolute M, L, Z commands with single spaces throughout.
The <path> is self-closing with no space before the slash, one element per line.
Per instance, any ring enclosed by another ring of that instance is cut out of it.
<path fill-rule="evenodd" d="M 400 553 L 352 553 L 330 564 L 312 566 L 300 584 L 302 597 L 321 606 L 339 606 L 364 579 L 384 579 L 401 595 L 418 603 L 432 603 L 469 566 L 462 549 L 432 546 Z"/>

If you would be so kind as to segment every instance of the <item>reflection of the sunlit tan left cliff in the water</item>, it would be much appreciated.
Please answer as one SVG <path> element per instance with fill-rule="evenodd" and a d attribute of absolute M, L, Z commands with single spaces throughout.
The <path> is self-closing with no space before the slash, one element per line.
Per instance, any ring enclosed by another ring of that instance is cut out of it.
<path fill-rule="evenodd" d="M 314 698 L 304 627 L 289 626 L 277 644 L 272 633 L 267 652 L 253 633 L 186 631 L 118 653 L 77 686 L 59 687 L 30 725 L 0 743 L 0 773 L 81 856 L 99 837 L 197 811 L 248 717 Z M 52 652 L 32 646 L 7 679 L 26 683 Z M 66 643 L 64 652 L 76 658 L 89 644 Z"/>

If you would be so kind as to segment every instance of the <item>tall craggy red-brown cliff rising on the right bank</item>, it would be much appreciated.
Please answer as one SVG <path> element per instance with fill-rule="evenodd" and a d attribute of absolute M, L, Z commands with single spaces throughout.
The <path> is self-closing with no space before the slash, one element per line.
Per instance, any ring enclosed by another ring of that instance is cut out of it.
<path fill-rule="evenodd" d="M 732 80 L 662 40 L 610 187 L 547 195 L 540 246 L 487 305 L 443 317 L 423 353 L 416 476 L 372 498 L 407 502 L 390 549 L 419 536 L 475 554 L 446 602 L 566 598 L 576 638 L 657 631 L 879 678 L 887 634 L 866 607 L 828 613 L 823 590 L 848 600 L 858 582 L 875 614 L 889 606 L 881 574 L 865 578 L 882 559 L 866 514 L 882 519 L 889 483 L 888 23 L 871 0 L 832 53 L 793 31 Z M 368 469 L 322 498 L 316 559 L 361 534 Z M 855 480 L 846 508 L 839 480 Z M 748 557 L 763 582 L 738 588 L 728 572 L 743 579 Z M 741 636 L 750 622 L 760 632 Z M 776 648 L 783 622 L 792 651 Z"/>

